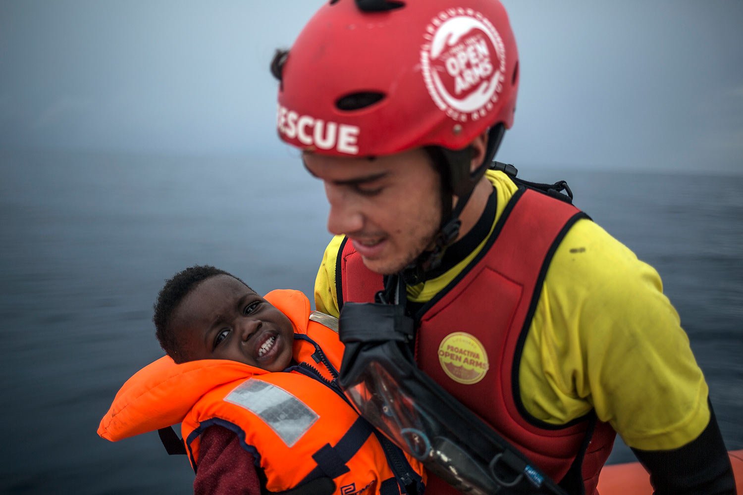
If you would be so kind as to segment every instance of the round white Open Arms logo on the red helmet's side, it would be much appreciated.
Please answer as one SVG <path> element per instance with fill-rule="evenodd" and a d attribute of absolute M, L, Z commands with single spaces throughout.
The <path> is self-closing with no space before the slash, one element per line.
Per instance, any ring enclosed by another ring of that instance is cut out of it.
<path fill-rule="evenodd" d="M 493 110 L 503 90 L 505 47 L 493 24 L 470 8 L 451 8 L 426 27 L 421 69 L 431 98 L 457 122 Z"/>

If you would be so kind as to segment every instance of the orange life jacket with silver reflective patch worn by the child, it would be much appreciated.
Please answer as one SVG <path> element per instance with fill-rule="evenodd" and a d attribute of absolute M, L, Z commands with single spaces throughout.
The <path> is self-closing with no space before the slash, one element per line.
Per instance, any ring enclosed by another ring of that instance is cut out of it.
<path fill-rule="evenodd" d="M 265 298 L 293 324 L 296 364 L 270 373 L 236 361 L 175 364 L 164 356 L 126 381 L 98 434 L 115 442 L 181 423 L 196 469 L 201 433 L 218 424 L 253 453 L 269 491 L 328 476 L 337 494 L 405 494 L 410 483 L 422 493 L 422 465 L 376 433 L 337 387 L 343 356 L 337 333 L 311 315 L 302 292 L 277 290 Z"/>

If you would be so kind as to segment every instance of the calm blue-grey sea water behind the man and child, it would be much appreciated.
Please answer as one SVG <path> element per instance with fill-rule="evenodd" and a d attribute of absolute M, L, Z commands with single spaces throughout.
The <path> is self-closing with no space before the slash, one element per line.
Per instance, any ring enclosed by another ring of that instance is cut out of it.
<path fill-rule="evenodd" d="M 0 396 L 7 494 L 189 493 L 155 433 L 97 426 L 126 378 L 162 355 L 150 318 L 165 278 L 210 263 L 259 292 L 311 294 L 327 206 L 287 154 L 0 154 Z M 743 177 L 521 167 L 658 269 L 710 384 L 727 448 L 743 448 Z M 617 445 L 611 461 L 632 460 Z"/>

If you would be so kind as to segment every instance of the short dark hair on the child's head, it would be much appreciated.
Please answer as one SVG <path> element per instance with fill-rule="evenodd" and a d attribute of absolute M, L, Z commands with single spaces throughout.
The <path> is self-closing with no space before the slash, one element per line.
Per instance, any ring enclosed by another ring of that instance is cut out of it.
<path fill-rule="evenodd" d="M 189 266 L 165 282 L 165 285 L 160 289 L 160 293 L 158 294 L 158 300 L 152 306 L 155 309 L 155 314 L 152 315 L 152 322 L 155 324 L 155 336 L 157 336 L 158 342 L 160 342 L 160 347 L 176 363 L 188 361 L 188 357 L 184 355 L 181 347 L 178 345 L 178 339 L 170 325 L 170 318 L 172 318 L 175 308 L 178 307 L 178 304 L 181 304 L 181 301 L 184 300 L 186 295 L 189 295 L 199 283 L 215 275 L 229 275 L 244 283 L 235 275 L 214 266 Z M 250 289 L 247 283 L 244 283 L 244 285 Z"/>

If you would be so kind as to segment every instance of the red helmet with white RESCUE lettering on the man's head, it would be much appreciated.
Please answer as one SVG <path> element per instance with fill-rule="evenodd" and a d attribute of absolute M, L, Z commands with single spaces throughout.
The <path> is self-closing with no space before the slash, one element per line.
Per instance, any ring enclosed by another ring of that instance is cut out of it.
<path fill-rule="evenodd" d="M 330 0 L 273 72 L 282 140 L 369 157 L 510 128 L 519 58 L 498 0 Z"/>

